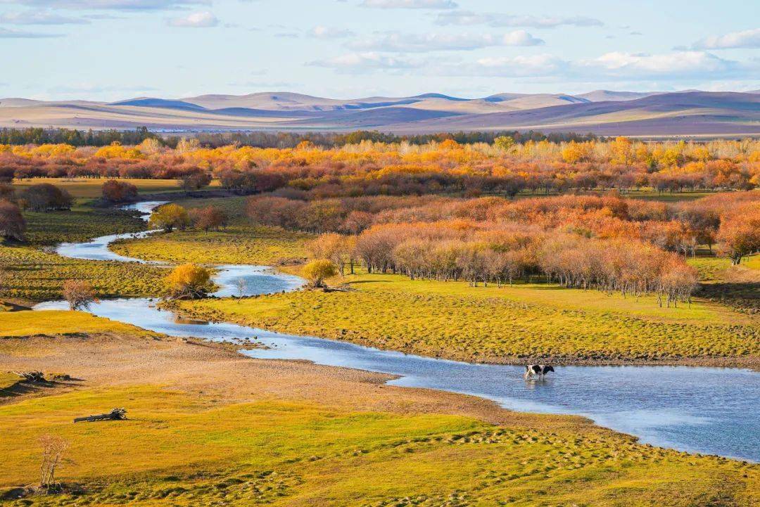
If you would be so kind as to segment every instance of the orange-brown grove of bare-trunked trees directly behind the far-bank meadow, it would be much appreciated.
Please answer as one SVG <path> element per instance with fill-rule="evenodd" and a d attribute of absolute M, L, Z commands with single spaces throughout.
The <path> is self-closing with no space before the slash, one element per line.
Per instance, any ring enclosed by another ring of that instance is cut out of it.
<path fill-rule="evenodd" d="M 321 232 L 315 258 L 344 272 L 512 283 L 542 277 L 567 287 L 623 295 L 657 294 L 660 304 L 689 301 L 696 287 L 685 258 L 717 243 L 739 262 L 760 250 L 760 196 L 719 194 L 687 204 L 564 196 L 350 197 L 293 200 L 249 197 L 257 223 Z"/>

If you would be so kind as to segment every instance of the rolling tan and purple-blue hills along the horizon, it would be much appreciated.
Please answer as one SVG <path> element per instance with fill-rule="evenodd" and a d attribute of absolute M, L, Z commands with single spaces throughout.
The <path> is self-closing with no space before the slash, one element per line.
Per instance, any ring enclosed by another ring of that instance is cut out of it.
<path fill-rule="evenodd" d="M 117 102 L 0 99 L 0 127 L 135 128 L 164 131 L 474 130 L 593 132 L 600 135 L 760 135 L 760 93 L 442 93 L 329 99 L 302 93 L 210 94 Z"/>

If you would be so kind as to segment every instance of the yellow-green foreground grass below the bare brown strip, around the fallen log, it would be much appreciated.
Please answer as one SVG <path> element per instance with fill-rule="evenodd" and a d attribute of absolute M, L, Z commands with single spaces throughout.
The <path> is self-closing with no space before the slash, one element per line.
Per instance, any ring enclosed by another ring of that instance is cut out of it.
<path fill-rule="evenodd" d="M 131 420 L 71 424 L 125 399 Z M 277 401 L 219 406 L 157 386 L 0 406 L 0 420 L 0 455 L 17 464 L 2 468 L 0 487 L 34 480 L 36 437 L 55 433 L 71 442 L 60 477 L 84 490 L 9 505 L 750 505 L 758 487 L 755 466 L 603 431 Z"/>

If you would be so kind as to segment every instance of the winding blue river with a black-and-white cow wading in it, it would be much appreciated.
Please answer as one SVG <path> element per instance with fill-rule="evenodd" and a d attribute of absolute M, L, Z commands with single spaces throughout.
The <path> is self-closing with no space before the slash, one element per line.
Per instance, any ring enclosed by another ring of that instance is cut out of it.
<path fill-rule="evenodd" d="M 150 213 L 160 204 L 126 207 Z M 145 262 L 108 249 L 112 241 L 131 237 L 135 235 L 103 236 L 87 243 L 62 244 L 57 251 L 78 259 Z M 301 279 L 266 266 L 217 267 L 217 296 L 236 294 L 235 283 L 240 278 L 246 281 L 246 295 L 290 291 L 302 285 Z M 158 310 L 155 303 L 149 298 L 105 300 L 90 307 L 90 312 L 172 336 L 214 341 L 256 337 L 268 348 L 244 354 L 391 373 L 399 376 L 390 382 L 396 386 L 477 395 L 518 411 L 581 415 L 655 446 L 760 461 L 760 373 L 750 370 L 556 367 L 556 374 L 549 379 L 525 382 L 521 367 L 445 361 L 231 323 L 186 320 Z M 65 307 L 65 302 L 50 301 L 35 309 Z"/>

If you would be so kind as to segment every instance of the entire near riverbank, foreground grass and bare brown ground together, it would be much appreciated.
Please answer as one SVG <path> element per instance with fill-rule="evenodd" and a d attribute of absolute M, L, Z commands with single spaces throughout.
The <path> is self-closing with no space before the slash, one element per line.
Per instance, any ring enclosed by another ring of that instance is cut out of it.
<path fill-rule="evenodd" d="M 18 329 L 36 325 L 36 313 L 18 315 Z M 50 312 L 48 329 L 68 329 L 79 316 Z M 81 379 L 0 398 L 7 505 L 758 501 L 755 464 L 642 446 L 578 417 L 382 386 L 388 377 L 375 373 L 254 361 L 87 318 L 92 333 L 0 339 L 0 371 L 30 367 Z M 129 420 L 71 423 L 116 406 Z M 68 489 L 12 499 L 36 481 L 44 434 L 71 444 L 59 473 Z"/>

